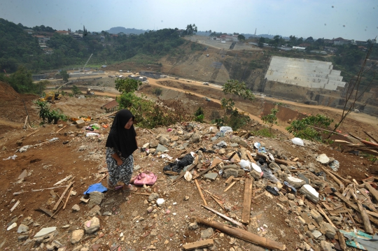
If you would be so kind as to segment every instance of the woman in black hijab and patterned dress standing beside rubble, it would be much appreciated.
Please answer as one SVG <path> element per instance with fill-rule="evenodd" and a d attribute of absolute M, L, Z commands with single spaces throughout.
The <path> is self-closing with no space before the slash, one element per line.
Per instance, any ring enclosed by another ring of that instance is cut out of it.
<path fill-rule="evenodd" d="M 130 110 L 120 110 L 114 118 L 106 141 L 106 164 L 109 176 L 109 189 L 115 189 L 118 182 L 123 182 L 125 191 L 137 191 L 130 183 L 134 171 L 132 153 L 138 149 L 137 133 L 134 126 L 134 115 Z"/>

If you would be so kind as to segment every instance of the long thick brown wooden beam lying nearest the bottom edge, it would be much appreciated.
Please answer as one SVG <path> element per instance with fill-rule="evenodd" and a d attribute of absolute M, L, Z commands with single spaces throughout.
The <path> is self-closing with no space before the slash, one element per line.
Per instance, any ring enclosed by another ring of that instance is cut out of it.
<path fill-rule="evenodd" d="M 237 238 L 241 238 L 244 241 L 249 241 L 251 243 L 254 243 L 256 245 L 260 245 L 264 248 L 269 249 L 276 249 L 276 250 L 286 250 L 286 245 L 283 245 L 281 243 L 277 243 L 275 241 L 269 240 L 268 238 L 258 236 L 256 234 L 252 234 L 246 230 L 243 229 L 237 229 L 236 227 L 230 227 L 225 224 L 216 222 L 214 220 L 209 221 L 202 219 L 200 217 L 197 217 L 197 222 L 201 224 L 205 224 L 209 227 L 213 227 L 214 229 L 218 229 L 219 231 L 224 232 L 225 234 L 230 234 L 231 236 L 235 236 Z"/>

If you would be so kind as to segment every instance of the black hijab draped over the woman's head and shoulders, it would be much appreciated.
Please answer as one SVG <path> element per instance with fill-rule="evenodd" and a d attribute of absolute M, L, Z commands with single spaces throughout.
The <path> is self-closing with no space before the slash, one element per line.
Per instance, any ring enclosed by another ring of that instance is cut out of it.
<path fill-rule="evenodd" d="M 130 110 L 123 109 L 117 113 L 105 145 L 108 148 L 116 148 L 116 150 L 122 152 L 122 157 L 124 158 L 132 155 L 138 148 L 137 141 L 135 140 L 137 133 L 135 132 L 134 125 L 130 129 L 125 129 L 125 125 L 130 118 L 134 121 L 134 115 L 132 115 Z"/>

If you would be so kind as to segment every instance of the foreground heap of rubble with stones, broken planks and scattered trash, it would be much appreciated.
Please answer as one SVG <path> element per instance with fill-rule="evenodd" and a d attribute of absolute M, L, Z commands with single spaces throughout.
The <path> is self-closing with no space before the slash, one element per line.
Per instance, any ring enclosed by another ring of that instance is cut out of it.
<path fill-rule="evenodd" d="M 83 159 L 104 162 L 106 133 L 94 130 L 86 136 L 83 131 L 62 134 L 73 137 L 69 144 L 83 152 Z M 247 245 L 251 250 L 258 250 L 258 246 L 351 250 L 348 246 L 361 245 L 374 250 L 369 247 L 376 245 L 372 234 L 378 226 L 372 202 L 378 201 L 376 178 L 358 183 L 338 175 L 339 162 L 319 155 L 315 143 L 304 141 L 304 146 L 298 146 L 291 141 L 253 137 L 247 131 L 195 123 L 168 129 L 137 128 L 137 134 L 143 147 L 134 152 L 134 174 L 152 171 L 158 180 L 125 198 L 125 204 L 134 203 L 131 211 L 118 215 L 120 211 L 112 206 L 115 194 L 91 192 L 88 197 L 75 197 L 78 203 L 71 207 L 72 212 L 82 211 L 81 204 L 87 210 L 78 222 L 69 221 L 62 227 L 63 235 L 57 227 L 41 228 L 31 217 L 22 215 L 14 217 L 7 229 L 17 229 L 16 222 L 21 222 L 19 241 L 32 247 L 30 250 L 141 247 L 138 250 L 239 251 Z M 302 156 L 296 157 L 288 149 Z M 106 169 L 99 166 L 97 173 L 92 173 L 93 183 L 102 182 L 106 175 Z M 66 206 L 69 196 L 76 195 L 73 176 L 63 182 L 68 185 L 52 212 L 45 209 L 50 218 L 59 218 L 59 208 Z M 268 218 L 264 216 L 268 212 L 269 217 L 280 215 L 277 222 L 293 229 L 292 233 L 274 225 L 276 222 L 265 223 L 267 219 L 262 219 Z M 125 230 L 117 227 L 119 222 Z M 293 240 L 285 238 L 292 234 Z M 150 243 L 141 244 L 144 238 Z"/>

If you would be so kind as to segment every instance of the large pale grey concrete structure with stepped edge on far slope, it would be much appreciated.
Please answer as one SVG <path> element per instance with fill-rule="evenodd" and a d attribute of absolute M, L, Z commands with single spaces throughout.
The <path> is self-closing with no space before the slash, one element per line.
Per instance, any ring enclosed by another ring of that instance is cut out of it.
<path fill-rule="evenodd" d="M 332 69 L 331 62 L 289 57 L 272 57 L 265 78 L 270 81 L 311 89 L 337 90 L 345 86 L 341 71 Z"/>

